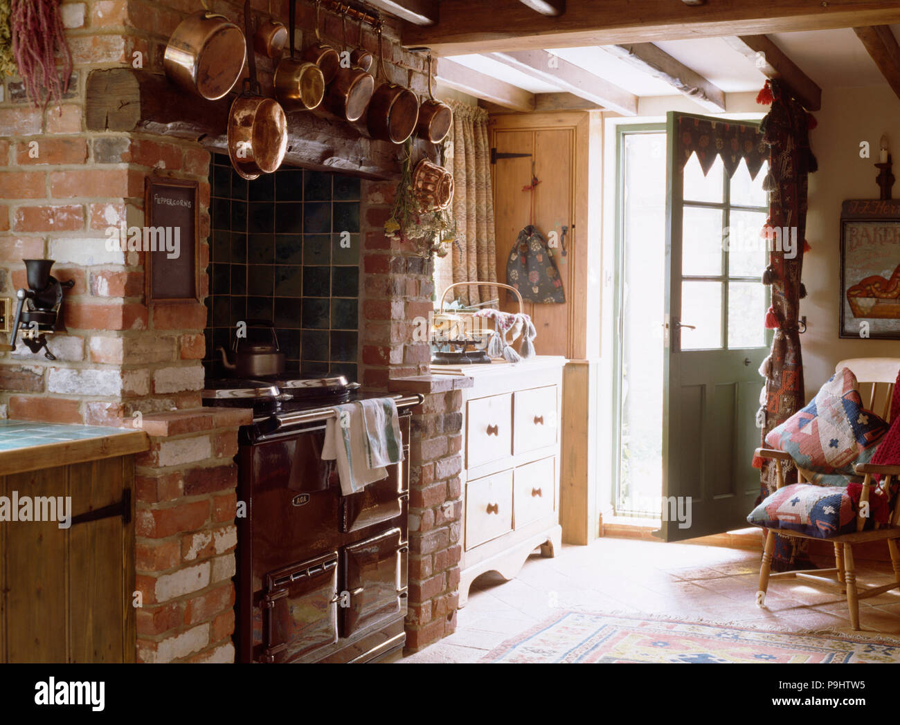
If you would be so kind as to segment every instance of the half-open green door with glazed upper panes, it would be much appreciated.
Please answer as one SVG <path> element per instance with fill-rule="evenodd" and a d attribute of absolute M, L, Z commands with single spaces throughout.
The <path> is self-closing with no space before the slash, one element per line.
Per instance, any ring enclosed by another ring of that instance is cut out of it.
<path fill-rule="evenodd" d="M 751 466 L 756 411 L 769 354 L 764 329 L 768 254 L 760 232 L 768 194 L 742 161 L 732 178 L 721 158 L 703 174 L 683 166 L 667 123 L 666 306 L 663 344 L 662 529 L 667 542 L 746 526 L 759 493 Z M 702 118 L 702 117 L 701 117 Z M 730 121 L 733 122 L 733 121 Z M 754 125 L 748 122 L 747 125 Z M 757 124 L 758 125 L 758 124 Z"/>

